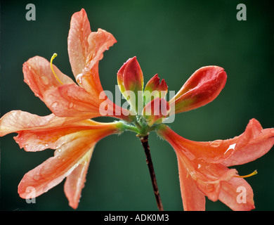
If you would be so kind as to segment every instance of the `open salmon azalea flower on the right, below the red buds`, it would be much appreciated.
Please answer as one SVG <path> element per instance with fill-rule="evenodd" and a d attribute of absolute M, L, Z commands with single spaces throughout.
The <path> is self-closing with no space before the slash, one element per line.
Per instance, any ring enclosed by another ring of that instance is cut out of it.
<path fill-rule="evenodd" d="M 177 155 L 184 210 L 205 210 L 204 195 L 212 201 L 221 200 L 232 210 L 254 209 L 252 187 L 236 169 L 228 167 L 266 154 L 274 144 L 274 129 L 263 129 L 252 119 L 243 134 L 228 140 L 190 141 L 166 125 L 159 127 L 157 134 Z M 237 200 L 238 188 L 244 188 L 244 201 Z"/>

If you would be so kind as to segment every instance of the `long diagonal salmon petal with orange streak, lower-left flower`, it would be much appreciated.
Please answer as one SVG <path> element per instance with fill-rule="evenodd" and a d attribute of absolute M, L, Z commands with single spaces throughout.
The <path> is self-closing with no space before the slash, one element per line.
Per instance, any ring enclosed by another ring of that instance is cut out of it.
<path fill-rule="evenodd" d="M 18 186 L 20 197 L 27 198 L 27 187 L 34 188 L 35 193 L 32 195 L 37 197 L 63 181 L 76 167 L 81 157 L 94 145 L 84 134 L 85 131 L 79 132 L 76 139 L 67 141 L 56 150 L 53 157 L 25 174 Z"/>

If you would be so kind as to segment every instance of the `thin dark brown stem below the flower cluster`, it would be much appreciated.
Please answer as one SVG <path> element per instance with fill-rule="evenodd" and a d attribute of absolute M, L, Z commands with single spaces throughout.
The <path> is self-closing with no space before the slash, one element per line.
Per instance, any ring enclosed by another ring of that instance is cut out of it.
<path fill-rule="evenodd" d="M 153 186 L 153 191 L 154 191 L 156 202 L 157 202 L 157 207 L 158 207 L 159 211 L 164 211 L 164 208 L 162 205 L 162 200 L 159 195 L 156 176 L 155 176 L 152 159 L 151 159 L 151 155 L 150 155 L 150 146 L 148 145 L 148 134 L 145 136 L 138 136 L 138 137 L 140 138 L 143 149 L 145 150 L 146 162 L 148 165 L 148 169 L 150 170 L 150 178 L 152 181 L 152 186 Z"/>

